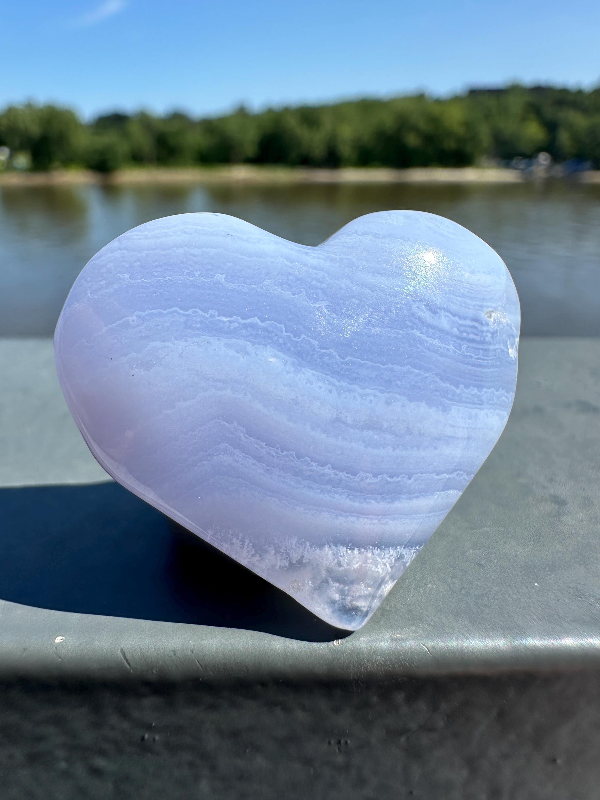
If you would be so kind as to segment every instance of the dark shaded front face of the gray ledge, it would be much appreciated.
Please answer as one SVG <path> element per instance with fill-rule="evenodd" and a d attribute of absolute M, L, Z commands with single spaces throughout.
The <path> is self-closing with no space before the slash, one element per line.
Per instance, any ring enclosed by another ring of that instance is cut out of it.
<path fill-rule="evenodd" d="M 0 688 L 2 800 L 596 800 L 600 675 Z"/>

